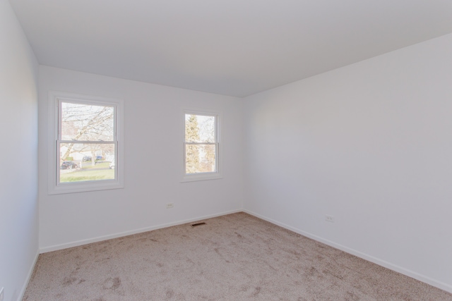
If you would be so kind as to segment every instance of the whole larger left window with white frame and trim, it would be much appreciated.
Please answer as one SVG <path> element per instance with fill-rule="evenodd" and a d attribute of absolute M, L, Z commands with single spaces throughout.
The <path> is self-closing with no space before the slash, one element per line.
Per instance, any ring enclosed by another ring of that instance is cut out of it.
<path fill-rule="evenodd" d="M 122 188 L 122 101 L 50 93 L 49 193 Z"/>

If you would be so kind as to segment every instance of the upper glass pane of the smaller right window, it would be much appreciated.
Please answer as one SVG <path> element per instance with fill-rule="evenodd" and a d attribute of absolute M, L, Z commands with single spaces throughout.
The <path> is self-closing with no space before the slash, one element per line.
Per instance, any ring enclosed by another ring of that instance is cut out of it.
<path fill-rule="evenodd" d="M 215 116 L 185 114 L 186 142 L 215 142 Z"/>

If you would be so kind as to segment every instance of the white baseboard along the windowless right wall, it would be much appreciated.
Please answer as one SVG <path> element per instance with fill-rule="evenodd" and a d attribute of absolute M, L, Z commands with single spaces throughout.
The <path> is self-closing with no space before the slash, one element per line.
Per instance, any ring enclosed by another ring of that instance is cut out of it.
<path fill-rule="evenodd" d="M 385 267 L 387 269 L 391 269 L 391 270 L 396 271 L 396 272 L 398 272 L 400 274 L 403 274 L 405 276 L 409 276 L 411 278 L 415 278 L 416 280 L 422 281 L 422 282 L 427 283 L 429 285 L 432 285 L 432 286 L 434 286 L 436 288 L 440 288 L 441 290 L 446 290 L 446 292 L 452 293 L 452 285 L 450 285 L 448 283 L 444 283 L 444 282 L 441 282 L 441 281 L 436 281 L 435 279 L 432 279 L 432 278 L 429 278 L 427 276 L 421 275 L 419 273 L 416 273 L 415 271 L 411 271 L 409 269 L 405 269 L 402 266 L 398 266 L 396 264 L 391 264 L 390 262 L 386 262 L 386 261 L 384 261 L 382 259 L 373 257 L 373 256 L 371 256 L 369 254 L 365 254 L 363 252 L 359 252 L 357 250 L 350 249 L 350 247 L 345 247 L 344 245 L 339 245 L 338 243 L 332 242 L 331 240 L 326 240 L 326 239 L 321 238 L 321 237 L 319 237 L 317 235 L 313 235 L 311 233 L 307 233 L 305 231 L 299 230 L 299 229 L 294 228 L 292 226 L 288 226 L 285 223 L 280 223 L 280 222 L 275 221 L 273 219 L 268 219 L 268 217 L 261 216 L 260 214 L 256 214 L 256 213 L 254 213 L 252 211 L 249 211 L 249 210 L 246 210 L 246 209 L 244 209 L 243 211 L 246 212 L 247 214 L 251 214 L 252 216 L 258 217 L 259 219 L 263 219 L 264 221 L 268 221 L 270 223 L 274 223 L 275 225 L 278 225 L 280 227 L 286 228 L 287 230 L 290 230 L 290 231 L 293 231 L 295 233 L 298 233 L 298 234 L 301 234 L 303 236 L 306 236 L 307 238 L 311 238 L 311 239 L 316 240 L 318 242 L 322 242 L 325 245 L 329 245 L 331 247 L 335 247 L 336 249 L 339 249 L 339 250 L 342 250 L 342 251 L 347 252 L 349 254 L 355 255 L 356 257 L 365 259 L 365 260 L 367 260 L 369 262 L 373 262 L 374 264 L 378 264 L 379 266 L 383 266 L 383 267 Z"/>

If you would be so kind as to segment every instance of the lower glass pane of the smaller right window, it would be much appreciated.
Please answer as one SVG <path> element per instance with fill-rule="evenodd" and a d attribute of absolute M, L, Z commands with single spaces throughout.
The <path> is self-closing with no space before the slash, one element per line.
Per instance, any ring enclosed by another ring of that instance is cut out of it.
<path fill-rule="evenodd" d="M 215 145 L 185 145 L 185 173 L 215 173 Z"/>

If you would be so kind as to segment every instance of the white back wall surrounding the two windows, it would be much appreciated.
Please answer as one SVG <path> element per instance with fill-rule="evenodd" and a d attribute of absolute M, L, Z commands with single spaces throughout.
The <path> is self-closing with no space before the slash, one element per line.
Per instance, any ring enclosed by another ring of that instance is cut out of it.
<path fill-rule="evenodd" d="M 241 99 L 47 66 L 39 87 L 43 251 L 242 209 Z M 124 189 L 47 194 L 49 90 L 124 99 Z M 222 113 L 222 179 L 180 183 L 183 108 Z"/>

